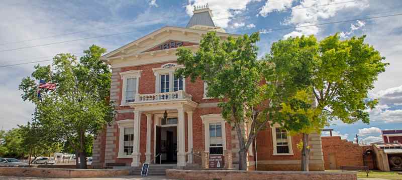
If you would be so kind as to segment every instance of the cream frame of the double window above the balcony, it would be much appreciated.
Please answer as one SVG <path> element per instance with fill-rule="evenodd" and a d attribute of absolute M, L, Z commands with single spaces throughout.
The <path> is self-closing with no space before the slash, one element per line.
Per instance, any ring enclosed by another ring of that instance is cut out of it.
<path fill-rule="evenodd" d="M 171 66 L 167 66 L 171 65 Z M 163 68 L 169 67 L 169 68 Z M 167 63 L 162 65 L 160 68 L 153 68 L 152 71 L 155 75 L 155 93 L 160 93 L 160 75 L 169 74 L 169 92 L 173 92 L 174 85 L 174 72 L 178 68 L 183 68 L 184 65 L 177 65 L 176 63 Z M 180 91 L 180 90 L 179 90 Z M 185 78 L 183 77 L 183 90 L 185 92 Z"/>

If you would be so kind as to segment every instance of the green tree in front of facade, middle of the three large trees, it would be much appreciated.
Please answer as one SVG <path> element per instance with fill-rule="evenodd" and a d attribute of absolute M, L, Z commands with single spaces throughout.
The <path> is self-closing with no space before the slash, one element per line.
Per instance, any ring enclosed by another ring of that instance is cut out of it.
<path fill-rule="evenodd" d="M 216 32 L 209 32 L 195 54 L 186 48 L 179 48 L 176 54 L 178 64 L 184 65 L 176 75 L 193 82 L 200 78 L 208 84 L 208 96 L 220 99 L 224 119 L 237 132 L 242 170 L 247 168 L 247 151 L 254 137 L 269 121 L 279 122 L 275 114 L 283 99 L 302 88 L 278 83 L 274 64 L 258 60 L 258 40 L 258 33 L 223 41 Z"/>

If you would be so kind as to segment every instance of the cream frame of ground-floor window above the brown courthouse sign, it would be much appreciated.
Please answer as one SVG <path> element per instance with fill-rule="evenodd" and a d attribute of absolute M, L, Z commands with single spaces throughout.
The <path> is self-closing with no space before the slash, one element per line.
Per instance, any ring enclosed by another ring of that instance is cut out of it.
<path fill-rule="evenodd" d="M 206 114 L 200 116 L 204 124 L 205 152 L 210 152 L 210 123 L 221 123 L 222 125 L 222 147 L 226 150 L 226 122 L 222 114 Z"/>

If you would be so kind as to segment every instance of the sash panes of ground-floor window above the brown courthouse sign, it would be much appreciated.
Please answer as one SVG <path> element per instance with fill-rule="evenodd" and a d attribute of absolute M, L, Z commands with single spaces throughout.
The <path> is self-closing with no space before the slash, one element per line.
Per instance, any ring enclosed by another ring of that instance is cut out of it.
<path fill-rule="evenodd" d="M 222 123 L 210 123 L 210 154 L 223 154 Z"/>

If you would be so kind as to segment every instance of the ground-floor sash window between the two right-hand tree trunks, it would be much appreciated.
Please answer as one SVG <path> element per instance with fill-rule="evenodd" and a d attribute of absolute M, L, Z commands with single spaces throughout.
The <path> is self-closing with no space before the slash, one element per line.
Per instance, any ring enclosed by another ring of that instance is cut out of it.
<path fill-rule="evenodd" d="M 279 127 L 272 128 L 274 155 L 293 154 L 291 137 L 288 136 L 286 129 Z"/>

